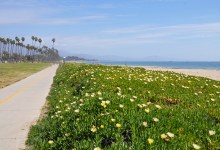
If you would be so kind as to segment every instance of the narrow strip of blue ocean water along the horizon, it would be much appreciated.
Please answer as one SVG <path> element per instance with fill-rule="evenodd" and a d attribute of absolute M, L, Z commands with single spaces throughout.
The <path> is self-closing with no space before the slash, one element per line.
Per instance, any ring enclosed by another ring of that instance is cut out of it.
<path fill-rule="evenodd" d="M 127 65 L 127 66 L 157 66 L 185 69 L 220 69 L 220 62 L 180 62 L 180 61 L 94 61 L 92 64 Z"/>

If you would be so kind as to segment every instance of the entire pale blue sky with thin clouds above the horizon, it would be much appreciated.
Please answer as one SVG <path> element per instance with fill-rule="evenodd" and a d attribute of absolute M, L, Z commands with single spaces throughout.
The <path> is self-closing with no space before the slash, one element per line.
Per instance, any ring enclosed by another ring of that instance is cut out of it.
<path fill-rule="evenodd" d="M 62 56 L 220 61 L 220 0 L 7 0 L 0 36 L 41 37 Z"/>

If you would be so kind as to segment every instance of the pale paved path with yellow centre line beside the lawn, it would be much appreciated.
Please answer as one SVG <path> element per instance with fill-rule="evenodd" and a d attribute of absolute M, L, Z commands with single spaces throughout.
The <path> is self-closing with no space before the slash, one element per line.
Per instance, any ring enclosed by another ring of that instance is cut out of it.
<path fill-rule="evenodd" d="M 58 65 L 52 65 L 0 89 L 0 150 L 25 149 L 31 125 L 38 120 Z"/>

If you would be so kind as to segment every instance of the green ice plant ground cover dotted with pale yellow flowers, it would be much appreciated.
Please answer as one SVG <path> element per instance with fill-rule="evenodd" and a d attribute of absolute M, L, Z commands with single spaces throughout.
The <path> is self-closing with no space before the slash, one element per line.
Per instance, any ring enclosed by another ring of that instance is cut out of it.
<path fill-rule="evenodd" d="M 33 149 L 218 149 L 220 82 L 143 68 L 64 64 Z"/>

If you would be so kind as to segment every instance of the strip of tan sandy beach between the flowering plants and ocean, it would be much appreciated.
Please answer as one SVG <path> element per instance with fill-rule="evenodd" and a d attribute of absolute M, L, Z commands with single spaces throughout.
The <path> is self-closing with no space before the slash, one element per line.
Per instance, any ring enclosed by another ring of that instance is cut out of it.
<path fill-rule="evenodd" d="M 173 71 L 177 73 L 183 73 L 186 75 L 206 77 L 213 80 L 220 81 L 220 70 L 212 70 L 212 69 L 177 69 L 177 68 L 164 68 L 164 67 L 153 67 L 153 66 L 136 66 L 143 67 L 147 70 L 155 70 L 155 71 Z"/>

